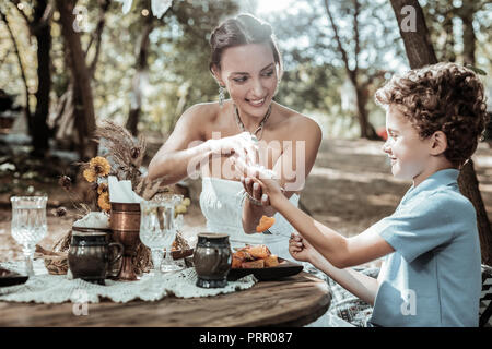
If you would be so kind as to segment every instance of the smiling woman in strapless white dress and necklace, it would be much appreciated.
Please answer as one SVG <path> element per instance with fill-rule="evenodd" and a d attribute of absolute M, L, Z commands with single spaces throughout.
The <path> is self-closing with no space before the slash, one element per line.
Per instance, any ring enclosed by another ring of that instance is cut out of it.
<path fill-rule="evenodd" d="M 233 248 L 262 243 L 290 258 L 292 227 L 261 205 L 259 188 L 246 195 L 239 181 L 244 173 L 235 165 L 258 164 L 271 170 L 297 205 L 321 131 L 312 119 L 273 101 L 282 61 L 269 24 L 238 15 L 213 31 L 210 45 L 210 71 L 220 86 L 220 101 L 198 104 L 183 113 L 150 163 L 149 178 L 165 177 L 171 184 L 191 176 L 198 166 L 208 230 L 229 233 Z M 224 89 L 231 99 L 224 100 Z M 271 234 L 256 233 L 263 215 L 276 217 Z"/>

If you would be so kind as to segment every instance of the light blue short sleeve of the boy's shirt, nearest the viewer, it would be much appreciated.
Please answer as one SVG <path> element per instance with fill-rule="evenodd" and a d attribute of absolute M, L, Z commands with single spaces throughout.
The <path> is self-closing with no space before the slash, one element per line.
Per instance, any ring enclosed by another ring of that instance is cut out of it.
<path fill-rule="evenodd" d="M 372 229 L 411 263 L 450 241 L 462 229 L 469 213 L 468 207 L 445 194 L 435 194 L 383 218 Z"/>

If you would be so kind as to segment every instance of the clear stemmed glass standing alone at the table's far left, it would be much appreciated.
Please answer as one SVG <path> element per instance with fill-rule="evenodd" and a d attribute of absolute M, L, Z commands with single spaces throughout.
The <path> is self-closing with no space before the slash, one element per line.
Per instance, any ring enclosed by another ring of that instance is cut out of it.
<path fill-rule="evenodd" d="M 47 232 L 47 196 L 12 196 L 11 233 L 22 245 L 27 275 L 34 275 L 33 256 L 38 243 Z"/>

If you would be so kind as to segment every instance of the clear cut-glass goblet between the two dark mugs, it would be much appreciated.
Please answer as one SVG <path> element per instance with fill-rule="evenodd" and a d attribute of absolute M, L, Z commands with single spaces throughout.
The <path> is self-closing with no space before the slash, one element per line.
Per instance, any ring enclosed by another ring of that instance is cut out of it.
<path fill-rule="evenodd" d="M 151 274 L 161 274 L 164 248 L 173 243 L 174 205 L 169 201 L 153 200 L 140 203 L 140 241 L 151 250 L 154 268 Z"/>

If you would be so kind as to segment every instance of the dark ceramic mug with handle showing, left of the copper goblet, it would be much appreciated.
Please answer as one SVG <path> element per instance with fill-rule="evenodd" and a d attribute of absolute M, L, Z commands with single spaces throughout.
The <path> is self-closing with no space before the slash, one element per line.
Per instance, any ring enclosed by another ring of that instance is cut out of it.
<path fill-rule="evenodd" d="M 118 249 L 114 253 L 113 249 Z M 72 231 L 72 241 L 68 253 L 68 264 L 73 278 L 105 285 L 108 268 L 121 258 L 124 246 L 119 242 L 108 242 L 105 232 Z"/>

